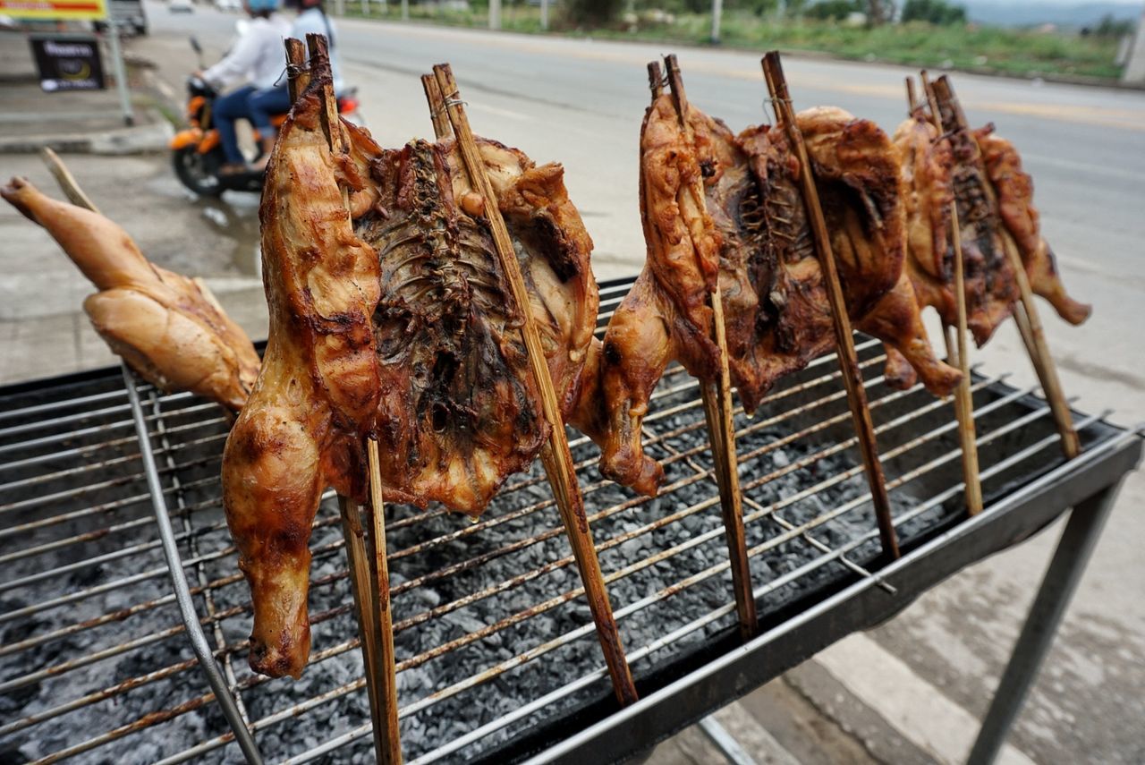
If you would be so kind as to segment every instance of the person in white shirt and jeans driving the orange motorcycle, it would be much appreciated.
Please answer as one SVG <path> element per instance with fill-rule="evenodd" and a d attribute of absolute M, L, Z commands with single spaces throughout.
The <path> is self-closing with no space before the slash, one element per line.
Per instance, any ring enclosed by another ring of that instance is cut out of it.
<path fill-rule="evenodd" d="M 255 90 L 274 87 L 285 70 L 283 38 L 290 34 L 290 23 L 278 11 L 278 0 L 244 0 L 243 6 L 251 15 L 251 24 L 222 61 L 202 73 L 208 82 L 222 87 L 245 82 L 214 102 L 214 123 L 227 157 L 222 173 L 246 169 L 246 160 L 238 149 L 235 121 L 251 119 L 247 100 Z M 252 119 L 252 123 L 254 120 Z M 274 135 L 269 119 L 267 124 L 254 123 L 255 129 L 266 129 Z"/>

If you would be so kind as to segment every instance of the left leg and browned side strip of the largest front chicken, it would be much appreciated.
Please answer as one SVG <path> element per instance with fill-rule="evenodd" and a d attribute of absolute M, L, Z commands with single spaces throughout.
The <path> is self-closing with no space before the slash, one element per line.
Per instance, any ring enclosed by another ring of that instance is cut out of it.
<path fill-rule="evenodd" d="M 318 112 L 308 90 L 267 166 L 259 220 L 270 334 L 222 462 L 227 525 L 254 601 L 250 663 L 273 677 L 299 677 L 309 657 L 310 525 L 326 487 L 365 497 L 364 439 L 381 394 L 378 257 L 355 235 L 339 189 L 361 194 L 368 179 L 332 156 Z M 369 142 L 344 129 L 355 145 Z"/>

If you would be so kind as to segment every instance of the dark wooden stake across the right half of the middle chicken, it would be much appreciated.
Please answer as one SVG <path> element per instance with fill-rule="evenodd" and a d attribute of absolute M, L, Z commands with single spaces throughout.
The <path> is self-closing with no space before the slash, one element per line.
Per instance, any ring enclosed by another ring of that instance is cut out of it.
<path fill-rule="evenodd" d="M 859 439 L 859 451 L 862 455 L 867 483 L 870 486 L 870 496 L 875 505 L 875 518 L 878 521 L 878 535 L 883 543 L 883 552 L 889 558 L 897 559 L 899 557 L 899 539 L 894 531 L 894 520 L 891 516 L 891 499 L 886 492 L 886 478 L 883 475 L 883 465 L 878 459 L 875 426 L 870 419 L 870 410 L 867 408 L 867 392 L 862 386 L 862 376 L 859 372 L 859 358 L 855 354 L 851 317 L 847 315 L 847 303 L 843 295 L 843 285 L 839 283 L 839 274 L 835 265 L 835 253 L 831 251 L 831 239 L 827 230 L 827 221 L 823 219 L 823 210 L 819 204 L 819 191 L 815 189 L 815 179 L 811 160 L 807 157 L 807 147 L 804 145 L 803 134 L 799 132 L 799 126 L 795 120 L 795 112 L 791 109 L 791 96 L 788 94 L 787 79 L 783 77 L 783 65 L 780 63 L 779 52 L 772 50 L 765 55 L 763 65 L 764 78 L 767 80 L 767 89 L 772 95 L 772 104 L 775 108 L 775 119 L 787 131 L 791 150 L 795 152 L 796 159 L 799 160 L 799 188 L 803 191 L 807 220 L 811 223 L 811 230 L 814 235 L 812 238 L 815 240 L 815 253 L 819 255 L 819 262 L 823 269 L 824 281 L 827 282 L 827 297 L 831 303 L 831 322 L 835 325 L 839 368 L 843 372 L 843 384 L 847 391 L 851 415 L 854 418 L 855 435 Z"/>

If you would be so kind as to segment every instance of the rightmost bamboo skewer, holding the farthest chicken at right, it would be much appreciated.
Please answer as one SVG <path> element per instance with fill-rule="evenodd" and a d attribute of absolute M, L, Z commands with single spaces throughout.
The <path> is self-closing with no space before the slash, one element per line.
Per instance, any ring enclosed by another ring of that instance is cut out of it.
<path fill-rule="evenodd" d="M 965 131 L 969 133 L 970 125 L 966 115 L 962 111 L 962 104 L 954 95 L 950 80 L 943 74 L 932 84 L 934 100 L 943 111 L 939 112 L 941 125 L 947 132 Z M 985 171 L 984 171 L 985 178 Z M 1049 345 L 1045 341 L 1045 331 L 1042 328 L 1042 320 L 1034 302 L 1034 292 L 1029 286 L 1029 276 L 1026 274 L 1026 265 L 1018 252 L 1018 245 L 1009 231 L 1003 230 L 1002 243 L 1006 250 L 1006 257 L 1014 271 L 1014 279 L 1018 282 L 1018 292 L 1021 300 L 1014 306 L 1014 321 L 1018 330 L 1022 334 L 1022 341 L 1029 353 L 1029 360 L 1037 372 L 1037 379 L 1042 384 L 1042 391 L 1050 404 L 1053 413 L 1053 421 L 1057 425 L 1058 434 L 1061 436 L 1061 450 L 1066 459 L 1073 459 L 1081 454 L 1081 442 L 1077 432 L 1074 429 L 1073 415 L 1069 412 L 1069 404 L 1066 402 L 1061 391 L 1061 382 L 1058 379 L 1058 370 L 1050 355 Z"/>

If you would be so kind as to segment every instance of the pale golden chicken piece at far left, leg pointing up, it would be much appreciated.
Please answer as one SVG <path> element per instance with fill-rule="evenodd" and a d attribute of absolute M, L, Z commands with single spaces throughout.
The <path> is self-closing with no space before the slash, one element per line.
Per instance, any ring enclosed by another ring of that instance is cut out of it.
<path fill-rule="evenodd" d="M 98 213 L 14 178 L 0 195 L 39 223 L 98 290 L 84 301 L 113 352 L 168 393 L 190 391 L 238 411 L 259 372 L 246 333 L 195 279 L 155 266 Z"/>

